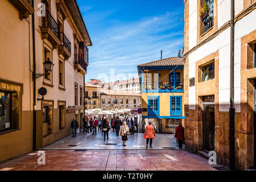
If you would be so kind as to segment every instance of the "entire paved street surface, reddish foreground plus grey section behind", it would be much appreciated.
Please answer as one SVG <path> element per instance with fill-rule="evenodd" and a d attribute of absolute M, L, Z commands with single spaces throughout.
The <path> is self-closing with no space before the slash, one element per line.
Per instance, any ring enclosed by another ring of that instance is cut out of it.
<path fill-rule="evenodd" d="M 39 165 L 38 153 L 31 152 L 1 163 L 0 170 L 214 171 L 217 170 L 214 167 L 220 167 L 210 166 L 207 159 L 196 154 L 178 150 L 173 135 L 158 134 L 153 142 L 153 150 L 145 150 L 145 140 L 141 134 L 129 137 L 127 150 L 121 150 L 123 146 L 120 137 L 111 132 L 109 138 L 108 142 L 104 142 L 101 134 L 78 134 L 76 138 L 67 137 L 41 150 L 46 154 L 45 165 Z M 77 146 L 71 147 L 70 144 Z M 172 147 L 172 150 L 162 147 Z"/>

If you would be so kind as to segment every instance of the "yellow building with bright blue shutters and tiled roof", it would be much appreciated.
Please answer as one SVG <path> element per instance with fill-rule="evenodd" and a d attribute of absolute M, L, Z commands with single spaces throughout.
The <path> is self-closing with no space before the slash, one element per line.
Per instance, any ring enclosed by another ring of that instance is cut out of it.
<path fill-rule="evenodd" d="M 153 121 L 159 133 L 173 133 L 185 118 L 184 63 L 182 57 L 169 57 L 137 65 L 142 118 Z"/>

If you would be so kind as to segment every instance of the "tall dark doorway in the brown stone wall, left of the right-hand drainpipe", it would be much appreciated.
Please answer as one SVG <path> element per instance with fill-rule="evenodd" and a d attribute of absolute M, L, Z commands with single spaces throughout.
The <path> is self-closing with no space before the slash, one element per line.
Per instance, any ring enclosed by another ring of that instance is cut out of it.
<path fill-rule="evenodd" d="M 214 104 L 204 104 L 203 112 L 203 142 L 205 151 L 214 150 L 215 140 Z"/>

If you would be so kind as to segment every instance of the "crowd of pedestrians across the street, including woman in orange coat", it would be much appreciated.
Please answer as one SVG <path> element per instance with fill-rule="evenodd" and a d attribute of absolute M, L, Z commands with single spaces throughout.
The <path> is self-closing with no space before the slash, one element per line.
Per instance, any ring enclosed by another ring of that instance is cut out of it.
<path fill-rule="evenodd" d="M 74 117 L 71 122 L 70 128 L 72 129 L 72 137 L 76 137 L 76 131 L 79 128 L 78 121 Z M 113 117 L 84 117 L 83 118 L 83 133 L 97 135 L 101 132 L 101 136 L 104 136 L 104 141 L 109 139 L 109 131 L 112 131 L 116 136 L 121 136 L 123 141 L 123 146 L 126 147 L 125 143 L 128 140 L 128 135 L 134 135 L 138 131 L 138 123 L 129 119 L 128 115 L 124 118 L 119 118 L 119 116 Z M 177 139 L 178 147 L 182 148 L 184 142 L 184 127 L 180 125 L 176 128 L 174 137 Z M 144 139 L 146 139 L 146 148 L 152 148 L 153 139 L 156 138 L 155 129 L 152 126 L 152 121 L 148 121 L 148 125 L 145 127 Z"/>

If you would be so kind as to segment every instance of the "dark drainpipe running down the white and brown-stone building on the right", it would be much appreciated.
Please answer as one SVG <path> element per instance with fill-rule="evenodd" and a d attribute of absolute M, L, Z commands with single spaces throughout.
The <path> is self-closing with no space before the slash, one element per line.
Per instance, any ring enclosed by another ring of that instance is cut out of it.
<path fill-rule="evenodd" d="M 229 108 L 229 168 L 235 169 L 235 108 L 234 108 L 234 0 L 231 0 L 230 20 L 230 108 Z"/>

